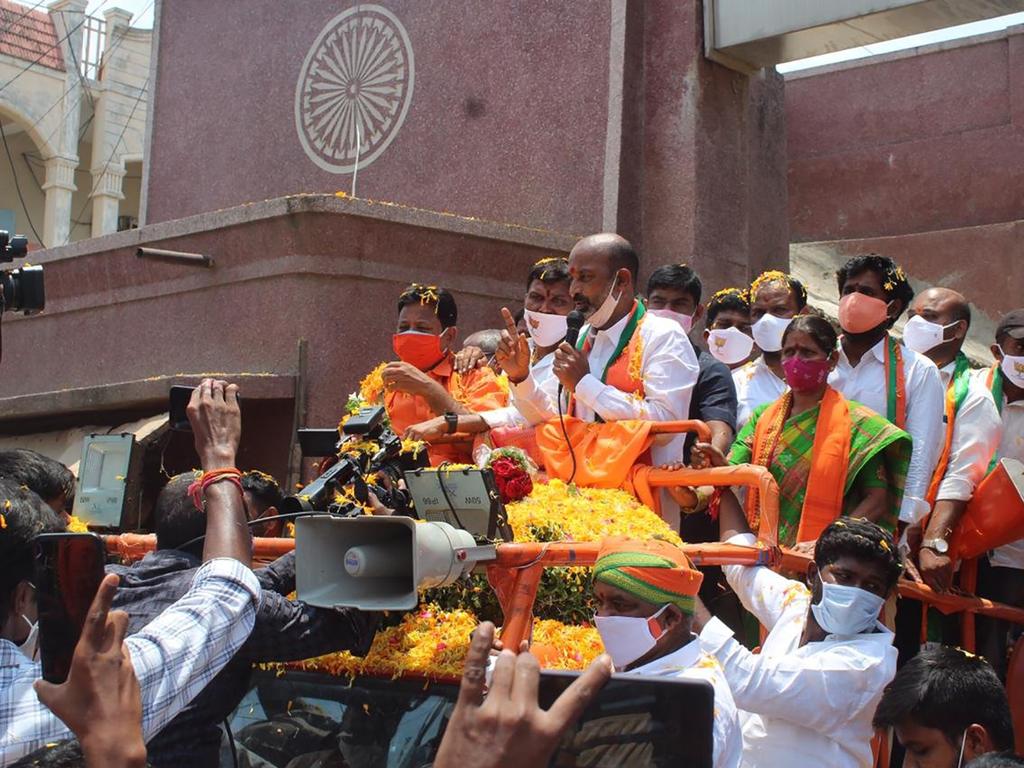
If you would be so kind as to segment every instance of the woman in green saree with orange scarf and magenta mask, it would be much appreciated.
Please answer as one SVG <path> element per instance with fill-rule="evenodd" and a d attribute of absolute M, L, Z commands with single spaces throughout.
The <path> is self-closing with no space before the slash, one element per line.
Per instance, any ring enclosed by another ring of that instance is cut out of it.
<path fill-rule="evenodd" d="M 778 483 L 778 543 L 813 551 L 818 535 L 840 516 L 863 517 L 895 530 L 910 436 L 827 384 L 839 358 L 827 321 L 796 317 L 782 337 L 790 389 L 754 412 L 728 460 L 710 445 L 694 449 L 693 466 L 759 464 Z M 748 517 L 757 503 L 748 494 Z M 756 525 L 757 520 L 752 519 Z"/>

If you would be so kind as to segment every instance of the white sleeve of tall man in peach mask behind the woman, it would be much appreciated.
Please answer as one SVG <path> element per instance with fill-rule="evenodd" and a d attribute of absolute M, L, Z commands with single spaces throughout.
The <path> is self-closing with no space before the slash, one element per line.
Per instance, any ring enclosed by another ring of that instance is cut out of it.
<path fill-rule="evenodd" d="M 904 348 L 903 354 L 909 355 L 912 352 Z M 939 370 L 922 357 L 916 357 L 909 367 L 906 390 L 906 431 L 913 438 L 913 450 L 906 472 L 899 519 L 913 524 L 931 511 L 925 499 L 942 451 L 945 390 Z"/>

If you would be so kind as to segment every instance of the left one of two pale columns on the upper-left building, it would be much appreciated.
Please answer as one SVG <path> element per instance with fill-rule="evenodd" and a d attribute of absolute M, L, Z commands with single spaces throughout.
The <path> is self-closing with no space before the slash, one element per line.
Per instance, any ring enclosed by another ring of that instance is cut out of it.
<path fill-rule="evenodd" d="M 73 212 L 72 195 L 76 190 L 75 169 L 78 168 L 78 132 L 81 128 L 83 99 L 82 77 L 76 61 L 82 60 L 85 8 L 87 0 L 56 0 L 47 6 L 53 17 L 53 28 L 61 41 L 65 76 L 63 101 L 60 104 L 60 128 L 53 139 L 56 154 L 46 161 L 46 212 L 43 238 L 47 248 L 62 246 L 71 238 Z"/>

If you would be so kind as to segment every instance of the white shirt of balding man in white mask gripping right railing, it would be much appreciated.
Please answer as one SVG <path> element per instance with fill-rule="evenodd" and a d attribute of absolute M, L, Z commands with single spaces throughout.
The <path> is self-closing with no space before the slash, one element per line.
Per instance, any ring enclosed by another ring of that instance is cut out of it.
<path fill-rule="evenodd" d="M 939 369 L 943 389 L 949 387 L 949 380 L 955 369 L 955 361 Z M 967 396 L 953 421 L 949 463 L 939 484 L 936 501 L 970 501 L 978 483 L 985 479 L 988 465 L 1001 437 L 1002 422 L 992 402 L 992 395 L 985 387 L 984 379 L 979 382 L 976 376 L 969 374 Z"/>

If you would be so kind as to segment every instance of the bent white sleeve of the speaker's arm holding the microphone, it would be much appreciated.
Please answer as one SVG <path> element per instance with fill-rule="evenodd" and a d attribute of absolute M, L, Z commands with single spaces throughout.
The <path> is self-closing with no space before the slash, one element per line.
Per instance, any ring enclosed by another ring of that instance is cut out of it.
<path fill-rule="evenodd" d="M 642 332 L 641 327 L 637 333 Z M 686 419 L 699 373 L 693 346 L 681 329 L 650 334 L 643 341 L 642 399 L 602 384 L 593 374 L 583 377 L 577 384 L 577 398 L 604 421 Z"/>

